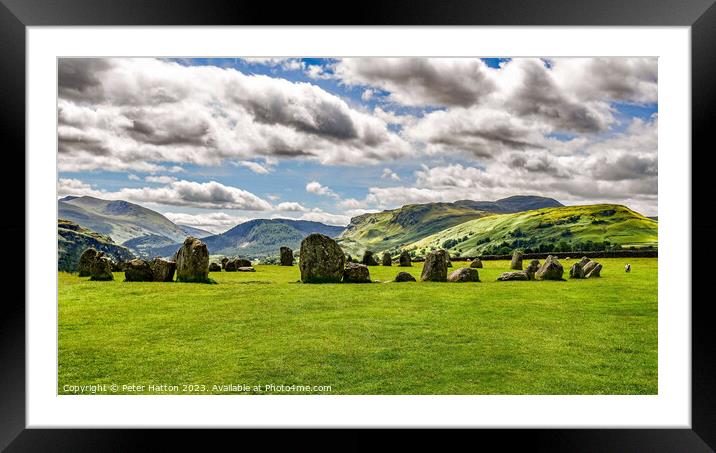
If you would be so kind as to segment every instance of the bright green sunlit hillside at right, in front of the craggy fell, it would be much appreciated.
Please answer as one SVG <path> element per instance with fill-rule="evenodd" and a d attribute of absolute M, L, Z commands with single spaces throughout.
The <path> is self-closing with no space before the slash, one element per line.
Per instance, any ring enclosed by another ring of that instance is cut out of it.
<path fill-rule="evenodd" d="M 655 247 L 657 238 L 656 221 L 625 206 L 598 204 L 494 214 L 456 225 L 403 248 L 417 256 L 435 248 L 445 248 L 453 255 L 477 256 L 511 253 L 515 248 L 551 252 Z"/>

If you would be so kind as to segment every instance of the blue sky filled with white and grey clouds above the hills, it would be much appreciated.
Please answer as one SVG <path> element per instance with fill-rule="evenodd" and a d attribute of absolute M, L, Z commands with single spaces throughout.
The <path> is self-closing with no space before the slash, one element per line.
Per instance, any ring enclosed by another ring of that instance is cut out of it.
<path fill-rule="evenodd" d="M 60 59 L 58 195 L 218 233 L 437 201 L 657 211 L 656 58 Z"/>

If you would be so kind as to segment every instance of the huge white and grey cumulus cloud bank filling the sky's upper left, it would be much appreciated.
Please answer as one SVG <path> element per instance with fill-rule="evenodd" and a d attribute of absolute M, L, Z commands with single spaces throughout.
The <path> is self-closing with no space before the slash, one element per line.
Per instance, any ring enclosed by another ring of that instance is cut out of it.
<path fill-rule="evenodd" d="M 403 156 L 408 144 L 316 85 L 157 59 L 61 59 L 61 171 L 160 171 L 226 158 L 324 164 Z"/>

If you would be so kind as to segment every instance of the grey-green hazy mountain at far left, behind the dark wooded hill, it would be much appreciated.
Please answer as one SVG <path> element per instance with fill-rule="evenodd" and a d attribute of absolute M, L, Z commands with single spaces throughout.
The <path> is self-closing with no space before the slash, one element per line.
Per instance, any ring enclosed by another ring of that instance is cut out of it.
<path fill-rule="evenodd" d="M 183 241 L 187 236 L 182 227 L 158 212 L 128 201 L 70 196 L 57 204 L 58 217 L 108 235 L 120 244 L 148 235 L 163 236 L 173 242 Z"/>

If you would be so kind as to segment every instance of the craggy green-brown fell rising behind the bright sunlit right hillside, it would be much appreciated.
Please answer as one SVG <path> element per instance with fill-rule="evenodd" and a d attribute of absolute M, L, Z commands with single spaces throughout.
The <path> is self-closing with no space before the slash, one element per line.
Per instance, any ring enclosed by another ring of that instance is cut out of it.
<path fill-rule="evenodd" d="M 425 203 L 363 214 L 351 219 L 338 238 L 343 250 L 360 256 L 366 249 L 395 251 L 401 246 L 461 223 L 492 215 L 530 209 L 558 207 L 552 198 L 518 195 L 497 201 L 460 200 L 454 203 Z"/>

